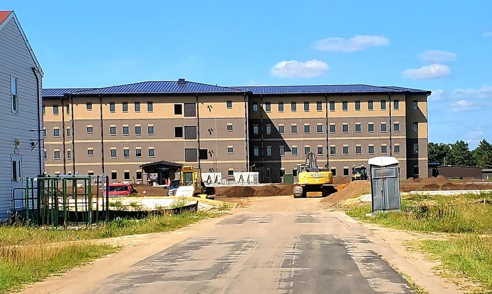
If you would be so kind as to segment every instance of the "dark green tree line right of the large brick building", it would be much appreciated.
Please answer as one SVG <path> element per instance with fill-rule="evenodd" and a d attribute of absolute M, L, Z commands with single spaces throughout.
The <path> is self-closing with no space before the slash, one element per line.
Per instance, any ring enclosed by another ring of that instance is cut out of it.
<path fill-rule="evenodd" d="M 492 168 L 492 145 L 484 139 L 475 149 L 470 150 L 468 143 L 461 140 L 453 144 L 430 142 L 429 162 L 490 169 Z"/>

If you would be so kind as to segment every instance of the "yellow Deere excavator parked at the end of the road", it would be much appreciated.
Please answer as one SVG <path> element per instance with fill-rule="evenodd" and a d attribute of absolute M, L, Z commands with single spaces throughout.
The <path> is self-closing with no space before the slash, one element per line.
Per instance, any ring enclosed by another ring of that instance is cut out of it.
<path fill-rule="evenodd" d="M 318 167 L 316 154 L 309 152 L 306 154 L 306 163 L 298 165 L 298 182 L 294 187 L 294 198 L 307 197 L 307 193 L 321 193 L 326 197 L 337 192 L 333 184 L 333 173 L 328 169 Z"/>

